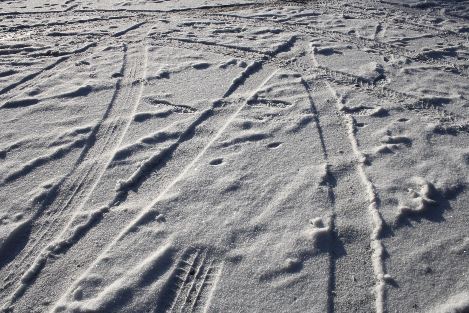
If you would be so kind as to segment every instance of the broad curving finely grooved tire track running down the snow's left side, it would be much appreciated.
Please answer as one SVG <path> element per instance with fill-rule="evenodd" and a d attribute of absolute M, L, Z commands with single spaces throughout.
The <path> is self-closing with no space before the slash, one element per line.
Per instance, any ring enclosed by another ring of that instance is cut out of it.
<path fill-rule="evenodd" d="M 125 49 L 124 49 L 125 50 Z M 73 212 L 75 211 L 75 215 L 79 214 L 79 211 L 83 207 L 84 203 L 87 201 L 87 197 L 91 194 L 92 190 L 96 187 L 96 185 L 99 182 L 99 179 L 96 178 L 96 175 L 98 171 L 104 171 L 106 169 L 106 159 L 103 159 L 100 157 L 101 155 L 106 155 L 106 150 L 109 149 L 115 149 L 114 147 L 114 141 L 116 138 L 119 137 L 119 135 L 122 136 L 122 133 L 119 131 L 119 124 L 122 124 L 124 120 L 122 120 L 121 116 L 124 114 L 126 111 L 126 104 L 132 103 L 130 100 L 131 97 L 136 97 L 136 93 L 138 91 L 133 91 L 135 89 L 141 89 L 140 86 L 136 86 L 135 84 L 132 84 L 133 81 L 135 81 L 136 75 L 139 74 L 140 70 L 138 68 L 138 65 L 140 64 L 139 60 L 134 60 L 133 62 L 133 68 L 128 69 L 126 68 L 126 63 L 128 61 L 125 60 L 122 64 L 121 72 L 124 74 L 124 82 L 121 83 L 121 80 L 119 79 L 116 82 L 116 93 L 114 94 L 113 98 L 111 99 L 108 108 L 103 115 L 103 118 L 99 121 L 99 123 L 93 128 L 91 132 L 91 138 L 92 140 L 88 141 L 87 146 L 85 149 L 83 149 L 83 152 L 81 154 L 81 157 L 78 159 L 77 164 L 75 166 L 75 171 L 74 174 L 69 176 L 67 179 L 64 179 L 64 181 L 61 182 L 61 185 L 64 185 L 65 190 L 70 190 L 69 192 L 65 192 L 65 195 L 62 196 L 62 200 L 59 201 L 61 203 L 53 204 L 51 207 L 55 207 L 53 209 L 53 215 L 51 217 L 47 217 L 47 219 L 52 218 L 52 221 L 50 221 L 47 224 L 43 224 L 46 226 L 45 229 L 41 230 L 39 229 L 38 232 L 39 234 L 35 237 L 38 238 L 45 238 L 45 236 L 50 237 L 50 230 L 53 227 L 57 227 L 57 223 L 63 223 L 63 214 L 65 212 L 69 212 L 70 210 Z M 129 71 L 129 73 L 126 73 Z M 121 85 L 124 85 L 126 88 L 124 88 L 123 92 L 120 88 Z M 140 87 L 140 88 L 139 88 Z M 133 89 L 133 90 L 132 90 Z M 135 100 L 136 103 L 138 103 L 138 98 Z M 115 105 L 115 104 L 118 105 Z M 127 115 L 128 116 L 128 115 Z M 131 115 L 130 115 L 131 116 Z M 104 126 L 104 127 L 103 127 Z M 109 147 L 110 146 L 110 147 Z M 85 158 L 90 158 L 92 161 L 91 162 L 83 162 Z M 91 164 L 90 164 L 91 163 Z M 94 181 L 94 185 L 90 186 L 89 182 Z M 65 187 L 69 186 L 69 187 Z M 81 198 L 81 195 L 87 195 L 84 199 L 78 200 L 78 203 L 75 204 L 74 199 L 75 198 Z M 56 201 L 54 201 L 56 202 Z M 81 203 L 81 204 L 80 204 Z M 69 207 L 71 207 L 69 209 Z M 102 212 L 101 212 L 102 213 Z M 97 215 L 93 215 L 92 219 L 96 218 Z M 70 218 L 70 220 L 73 220 L 73 215 Z M 67 227 L 65 227 L 67 229 Z M 60 236 L 59 236 L 60 237 Z M 70 238 L 68 243 L 62 243 L 65 245 L 68 245 L 72 243 L 73 238 Z M 35 250 L 36 246 L 41 243 L 40 240 L 36 241 L 36 243 L 30 247 L 27 251 L 27 253 L 22 253 L 25 254 L 25 256 L 21 259 L 21 264 L 22 268 L 24 266 L 28 266 L 27 264 L 30 264 L 30 257 L 32 255 L 35 255 Z M 41 243 L 44 245 L 44 243 Z M 60 244 L 58 245 L 59 247 L 61 246 Z M 21 278 L 22 284 L 17 288 L 15 291 L 14 295 L 11 298 L 10 304 L 5 305 L 4 307 L 7 308 L 8 306 L 11 306 L 12 303 L 14 303 L 15 299 L 20 296 L 26 289 L 27 284 L 29 283 L 30 279 L 26 277 L 33 277 L 40 271 L 42 266 L 45 265 L 46 260 L 53 255 L 53 253 L 58 253 L 60 249 L 57 249 L 56 244 L 54 242 L 52 243 L 45 243 L 45 248 L 43 252 L 39 253 L 39 256 L 36 258 L 35 261 L 33 261 L 33 266 L 30 268 L 29 271 L 25 271 L 25 274 L 20 274 L 23 275 L 23 278 Z M 18 269 L 15 269 L 15 271 L 20 272 L 21 270 L 18 271 Z M 15 276 L 18 277 L 18 276 Z M 17 278 L 16 278 L 17 279 Z M 14 282 L 13 279 L 10 279 L 10 283 L 12 284 Z"/>

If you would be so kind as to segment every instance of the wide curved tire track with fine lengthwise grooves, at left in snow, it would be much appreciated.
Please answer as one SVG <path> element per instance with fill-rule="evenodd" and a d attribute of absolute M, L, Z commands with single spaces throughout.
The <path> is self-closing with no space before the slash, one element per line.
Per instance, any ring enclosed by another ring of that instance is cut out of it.
<path fill-rule="evenodd" d="M 57 233 L 61 227 L 64 227 L 61 225 L 64 223 L 67 224 L 67 221 L 73 221 L 76 214 L 79 213 L 83 208 L 83 205 L 88 200 L 92 190 L 97 186 L 102 173 L 106 170 L 107 160 L 101 156 L 106 155 L 108 150 L 113 149 L 116 139 L 119 138 L 119 136 L 123 136 L 119 126 L 127 119 L 123 119 L 122 115 L 128 111 L 127 106 L 129 103 L 132 103 L 131 98 L 136 98 L 136 93 L 139 91 L 136 89 L 141 89 L 141 86 L 132 84 L 136 75 L 140 73 L 141 60 L 138 58 L 134 59 L 132 67 L 130 68 L 126 68 L 127 63 L 128 60 L 124 59 L 121 69 L 124 73 L 124 79 L 122 82 L 121 80 L 118 80 L 116 91 L 108 105 L 108 109 L 101 121 L 96 127 L 94 127 L 91 133 L 91 141 L 89 141 L 83 149 L 82 155 L 75 166 L 76 170 L 68 175 L 68 177 L 61 183 L 62 187 L 60 189 L 64 193 L 64 196 L 62 196 L 61 199 L 54 201 L 50 206 L 53 208 L 52 216 L 44 216 L 40 218 L 40 220 L 45 218 L 47 222 L 39 223 L 42 227 L 31 233 L 31 237 L 43 240 L 36 240 L 32 246 L 23 249 L 23 252 L 21 253 L 23 257 L 20 260 L 15 261 L 15 263 L 19 263 L 19 265 L 17 264 L 18 267 L 15 268 L 12 273 L 13 275 L 6 275 L 11 277 L 8 285 L 19 280 L 23 280 L 23 282 L 20 283 L 15 293 L 11 296 L 9 304 L 7 302 L 4 308 L 11 306 L 15 302 L 16 298 L 21 296 L 21 294 L 26 290 L 29 280 L 24 279 L 25 275 L 29 273 L 28 275 L 31 276 L 31 269 L 34 272 L 33 276 L 37 275 L 36 273 L 38 273 L 42 266 L 45 265 L 48 257 L 53 253 L 60 251 L 60 249 L 57 250 L 57 246 L 53 244 L 54 241 L 49 242 L 46 239 L 54 237 L 53 233 Z M 120 87 L 122 85 L 124 88 Z M 135 103 L 138 103 L 138 100 L 136 100 Z M 129 116 L 129 119 L 131 118 L 131 115 L 125 114 L 125 116 Z M 90 161 L 87 162 L 86 159 L 89 159 Z M 101 173 L 101 175 L 99 175 L 99 173 Z M 93 181 L 94 184 L 91 185 L 90 183 Z M 75 212 L 75 214 L 64 219 L 65 214 L 68 214 L 69 212 Z M 55 231 L 53 231 L 54 228 Z M 65 226 L 64 231 L 66 231 L 66 229 L 67 226 Z M 58 237 L 60 237 L 60 235 Z M 71 243 L 71 241 L 69 243 Z M 38 247 L 38 245 L 42 246 Z M 39 253 L 38 251 L 40 250 L 43 250 L 43 252 Z M 35 255 L 39 255 L 39 257 L 36 257 L 36 260 L 32 262 L 33 265 L 30 269 L 26 270 L 26 268 L 31 264 L 31 258 Z M 4 286 L 4 288 L 5 287 L 7 286 Z"/>

